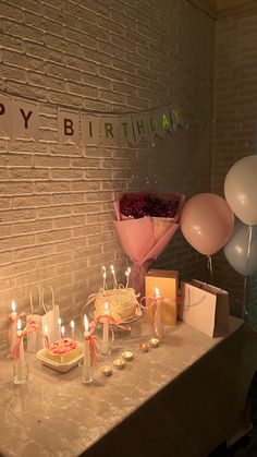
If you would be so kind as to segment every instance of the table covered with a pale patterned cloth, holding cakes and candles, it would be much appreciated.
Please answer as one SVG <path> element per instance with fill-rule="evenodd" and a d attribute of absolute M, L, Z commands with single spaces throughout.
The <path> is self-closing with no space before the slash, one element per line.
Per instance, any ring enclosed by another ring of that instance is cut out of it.
<path fill-rule="evenodd" d="M 12 383 L 12 361 L 1 360 L 0 453 L 4 457 L 207 457 L 233 433 L 257 369 L 257 334 L 231 317 L 230 334 L 209 338 L 179 323 L 148 353 L 152 336 L 134 324 L 119 336 L 135 360 L 103 377 L 97 368 L 83 385 L 79 368 L 59 374 L 29 354 L 29 382 Z M 101 361 L 103 362 L 103 361 Z"/>

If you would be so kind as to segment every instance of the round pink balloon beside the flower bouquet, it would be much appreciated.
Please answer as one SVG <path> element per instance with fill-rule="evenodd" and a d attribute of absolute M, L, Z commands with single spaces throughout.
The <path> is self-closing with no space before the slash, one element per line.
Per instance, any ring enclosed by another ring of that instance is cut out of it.
<path fill-rule="evenodd" d="M 234 216 L 227 201 L 212 193 L 189 199 L 181 215 L 181 230 L 188 243 L 205 255 L 212 255 L 229 240 Z"/>

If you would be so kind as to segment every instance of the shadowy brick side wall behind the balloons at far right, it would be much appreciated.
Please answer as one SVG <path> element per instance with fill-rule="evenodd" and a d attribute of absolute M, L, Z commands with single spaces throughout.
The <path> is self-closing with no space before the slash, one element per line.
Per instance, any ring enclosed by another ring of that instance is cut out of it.
<path fill-rule="evenodd" d="M 257 153 L 257 5 L 230 10 L 217 22 L 215 134 L 212 191 L 223 195 L 229 169 L 242 157 Z M 257 179 L 257 177 L 256 177 Z M 217 281 L 231 291 L 233 313 L 242 310 L 244 278 L 227 262 L 222 251 L 215 256 Z M 250 321 L 257 327 L 257 277 L 248 279 Z"/>

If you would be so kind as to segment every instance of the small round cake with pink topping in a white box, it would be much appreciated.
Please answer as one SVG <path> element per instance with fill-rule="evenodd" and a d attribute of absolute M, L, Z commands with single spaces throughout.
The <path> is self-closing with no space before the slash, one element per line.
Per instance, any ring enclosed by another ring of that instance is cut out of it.
<path fill-rule="evenodd" d="M 72 362 L 83 354 L 83 346 L 74 339 L 63 338 L 52 342 L 49 349 L 44 350 L 44 358 L 59 364 Z"/>

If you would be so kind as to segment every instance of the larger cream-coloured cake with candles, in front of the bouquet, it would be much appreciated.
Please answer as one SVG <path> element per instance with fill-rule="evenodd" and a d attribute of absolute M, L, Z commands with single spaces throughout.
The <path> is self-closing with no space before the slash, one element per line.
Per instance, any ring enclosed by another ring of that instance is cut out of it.
<path fill-rule="evenodd" d="M 102 290 L 95 300 L 95 317 L 106 313 L 106 302 L 109 304 L 109 314 L 118 322 L 132 321 L 139 316 L 140 308 L 135 290 L 132 288 L 121 288 Z"/>

